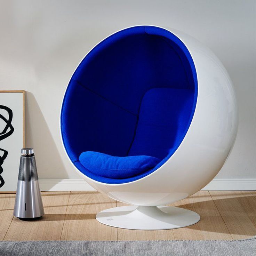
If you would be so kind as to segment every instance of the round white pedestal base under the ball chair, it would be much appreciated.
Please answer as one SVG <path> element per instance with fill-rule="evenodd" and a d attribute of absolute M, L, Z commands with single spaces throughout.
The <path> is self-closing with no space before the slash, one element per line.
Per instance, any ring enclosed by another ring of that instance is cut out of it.
<path fill-rule="evenodd" d="M 122 229 L 161 230 L 193 225 L 200 221 L 200 216 L 173 206 L 122 206 L 101 211 L 96 219 Z"/>

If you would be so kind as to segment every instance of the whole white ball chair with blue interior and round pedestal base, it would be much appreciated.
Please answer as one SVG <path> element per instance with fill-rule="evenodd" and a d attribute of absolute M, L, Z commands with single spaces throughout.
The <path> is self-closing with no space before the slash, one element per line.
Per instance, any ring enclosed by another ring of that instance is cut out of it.
<path fill-rule="evenodd" d="M 192 225 L 167 207 L 206 186 L 237 130 L 232 83 L 217 57 L 180 31 L 140 25 L 99 42 L 63 98 L 64 149 L 87 183 L 130 206 L 96 219 L 126 229 Z"/>

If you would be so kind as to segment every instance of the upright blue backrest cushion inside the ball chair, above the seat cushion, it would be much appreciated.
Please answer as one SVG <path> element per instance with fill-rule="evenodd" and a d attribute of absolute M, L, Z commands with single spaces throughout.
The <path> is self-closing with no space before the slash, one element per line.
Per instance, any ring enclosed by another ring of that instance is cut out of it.
<path fill-rule="evenodd" d="M 128 155 L 165 158 L 181 143 L 191 115 L 194 91 L 155 88 L 144 95 Z"/>

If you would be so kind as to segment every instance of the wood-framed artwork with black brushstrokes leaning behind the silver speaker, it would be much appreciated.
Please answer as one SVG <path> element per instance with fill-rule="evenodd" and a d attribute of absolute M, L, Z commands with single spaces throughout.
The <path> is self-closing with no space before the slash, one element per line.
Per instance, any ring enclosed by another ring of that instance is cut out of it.
<path fill-rule="evenodd" d="M 25 91 L 0 91 L 0 192 L 16 191 L 25 147 Z"/>

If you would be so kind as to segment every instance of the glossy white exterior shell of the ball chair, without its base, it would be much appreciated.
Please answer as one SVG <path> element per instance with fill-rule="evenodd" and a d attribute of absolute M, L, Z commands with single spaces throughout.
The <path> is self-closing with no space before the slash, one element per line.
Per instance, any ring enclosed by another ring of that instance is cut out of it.
<path fill-rule="evenodd" d="M 222 168 L 237 132 L 235 94 L 222 63 L 193 37 L 167 30 L 189 50 L 198 79 L 194 117 L 181 145 L 159 169 L 129 183 L 101 183 L 77 170 L 96 190 L 133 205 L 165 205 L 202 189 Z"/>

